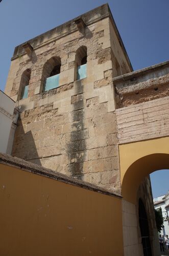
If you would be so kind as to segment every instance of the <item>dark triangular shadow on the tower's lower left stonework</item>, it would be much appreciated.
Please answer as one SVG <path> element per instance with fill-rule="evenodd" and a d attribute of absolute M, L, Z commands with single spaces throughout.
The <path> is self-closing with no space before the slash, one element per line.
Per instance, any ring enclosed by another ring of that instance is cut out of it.
<path fill-rule="evenodd" d="M 35 142 L 31 131 L 25 133 L 23 124 L 19 118 L 15 131 L 12 156 L 41 165 L 36 145 L 39 141 Z"/>

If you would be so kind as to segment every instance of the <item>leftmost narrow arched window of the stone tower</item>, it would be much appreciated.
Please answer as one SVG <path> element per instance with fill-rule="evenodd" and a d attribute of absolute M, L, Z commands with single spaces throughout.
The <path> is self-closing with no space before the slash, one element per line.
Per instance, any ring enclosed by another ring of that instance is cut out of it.
<path fill-rule="evenodd" d="M 25 70 L 20 80 L 18 99 L 28 98 L 30 77 L 31 77 L 31 70 L 30 69 Z"/>

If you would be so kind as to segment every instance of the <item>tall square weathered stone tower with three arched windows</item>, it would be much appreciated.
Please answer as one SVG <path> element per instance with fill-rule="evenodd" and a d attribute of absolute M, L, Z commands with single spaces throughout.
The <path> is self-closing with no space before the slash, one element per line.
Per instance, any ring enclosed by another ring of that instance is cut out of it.
<path fill-rule="evenodd" d="M 12 155 L 120 193 L 112 80 L 131 71 L 107 4 L 17 46 Z"/>

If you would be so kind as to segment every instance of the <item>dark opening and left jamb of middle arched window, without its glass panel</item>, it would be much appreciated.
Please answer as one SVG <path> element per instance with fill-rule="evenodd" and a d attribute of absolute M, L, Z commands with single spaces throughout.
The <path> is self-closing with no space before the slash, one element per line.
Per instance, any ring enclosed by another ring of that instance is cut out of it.
<path fill-rule="evenodd" d="M 40 91 L 44 91 L 46 78 L 60 74 L 61 58 L 58 56 L 51 57 L 44 63 L 40 84 Z"/>

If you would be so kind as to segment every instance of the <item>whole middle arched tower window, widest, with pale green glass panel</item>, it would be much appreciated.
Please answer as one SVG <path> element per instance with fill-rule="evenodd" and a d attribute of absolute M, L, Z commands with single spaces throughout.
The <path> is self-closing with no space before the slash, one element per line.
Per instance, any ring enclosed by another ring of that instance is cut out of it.
<path fill-rule="evenodd" d="M 60 57 L 52 57 L 43 66 L 42 87 L 43 91 L 49 91 L 59 86 L 59 74 L 61 67 Z"/>

